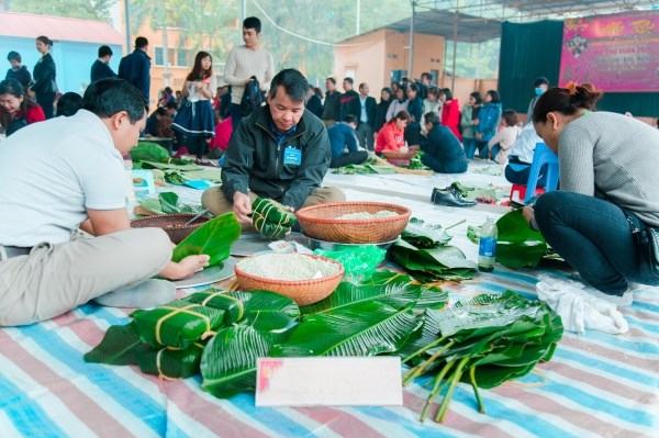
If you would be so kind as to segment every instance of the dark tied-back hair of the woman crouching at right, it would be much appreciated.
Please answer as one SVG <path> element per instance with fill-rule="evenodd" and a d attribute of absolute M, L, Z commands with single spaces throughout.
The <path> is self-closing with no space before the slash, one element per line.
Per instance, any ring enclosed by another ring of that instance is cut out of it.
<path fill-rule="evenodd" d="M 545 122 L 550 112 L 572 115 L 582 109 L 594 110 L 603 94 L 592 83 L 568 82 L 565 88 L 550 88 L 538 99 L 533 110 L 533 123 Z"/>

